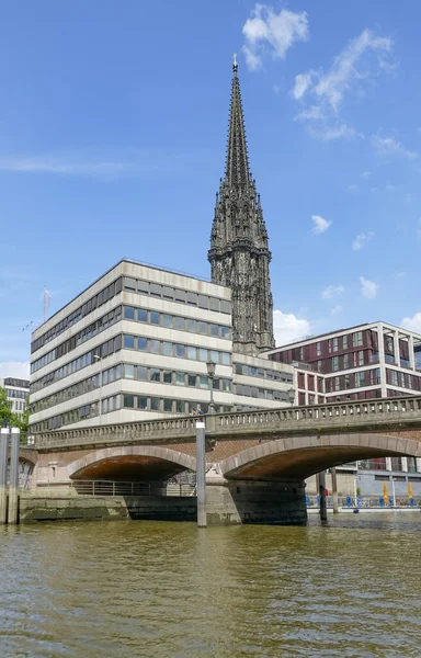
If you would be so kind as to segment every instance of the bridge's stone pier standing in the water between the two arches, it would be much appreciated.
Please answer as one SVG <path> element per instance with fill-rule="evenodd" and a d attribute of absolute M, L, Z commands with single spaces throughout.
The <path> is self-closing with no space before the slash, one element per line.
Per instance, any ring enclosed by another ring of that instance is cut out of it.
<path fill-rule="evenodd" d="M 304 480 L 225 479 L 208 472 L 207 525 L 301 525 L 307 521 Z"/>

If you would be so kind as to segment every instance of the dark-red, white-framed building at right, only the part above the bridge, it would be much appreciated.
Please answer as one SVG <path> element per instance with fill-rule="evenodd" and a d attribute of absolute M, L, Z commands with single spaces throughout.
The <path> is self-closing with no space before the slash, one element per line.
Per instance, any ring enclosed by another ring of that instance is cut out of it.
<path fill-rule="evenodd" d="M 421 393 L 421 334 L 369 322 L 311 337 L 268 352 L 294 365 L 298 405 Z"/>

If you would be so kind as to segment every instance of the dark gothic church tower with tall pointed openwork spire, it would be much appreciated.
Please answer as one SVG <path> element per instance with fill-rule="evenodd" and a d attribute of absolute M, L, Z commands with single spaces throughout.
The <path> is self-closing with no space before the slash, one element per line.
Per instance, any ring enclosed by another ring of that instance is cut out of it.
<path fill-rule="evenodd" d="M 231 288 L 234 351 L 257 355 L 274 348 L 271 252 L 260 195 L 249 168 L 236 58 L 225 178 L 216 195 L 208 260 L 212 282 Z"/>

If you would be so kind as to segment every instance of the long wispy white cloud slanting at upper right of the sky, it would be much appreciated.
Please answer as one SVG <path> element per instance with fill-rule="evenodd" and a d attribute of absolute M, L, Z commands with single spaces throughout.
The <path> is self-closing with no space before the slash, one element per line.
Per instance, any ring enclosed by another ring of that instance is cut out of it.
<path fill-rule="evenodd" d="M 311 135 L 325 140 L 352 137 L 355 128 L 340 116 L 346 95 L 362 94 L 363 81 L 390 68 L 392 42 L 371 30 L 350 41 L 333 59 L 330 69 L 310 69 L 295 78 L 292 95 L 301 103 L 297 121 L 306 123 Z"/>

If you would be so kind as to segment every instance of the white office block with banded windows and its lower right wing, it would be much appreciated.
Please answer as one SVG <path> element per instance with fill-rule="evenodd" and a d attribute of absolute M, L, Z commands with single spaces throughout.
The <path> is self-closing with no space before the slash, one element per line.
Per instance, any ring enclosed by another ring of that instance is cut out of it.
<path fill-rule="evenodd" d="M 30 430 L 278 407 L 293 372 L 234 351 L 228 287 L 123 260 L 34 331 Z"/>

